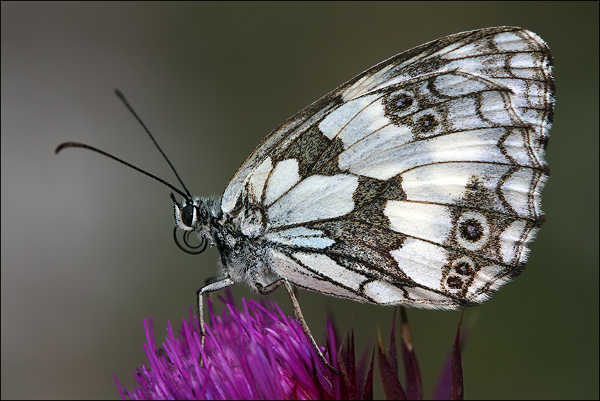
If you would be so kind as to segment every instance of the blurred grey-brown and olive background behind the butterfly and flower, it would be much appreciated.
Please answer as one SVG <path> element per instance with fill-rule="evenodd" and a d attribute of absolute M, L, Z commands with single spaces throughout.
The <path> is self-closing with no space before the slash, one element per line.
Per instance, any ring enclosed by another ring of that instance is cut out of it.
<path fill-rule="evenodd" d="M 286 118 L 375 63 L 465 30 L 516 25 L 555 58 L 546 224 L 525 273 L 465 314 L 470 399 L 599 397 L 599 3 L 1 3 L 1 398 L 118 398 L 215 275 L 215 250 L 172 240 L 160 184 L 64 141 L 175 182 L 114 96 L 127 94 L 197 195 L 220 194 Z M 236 297 L 254 297 L 244 288 Z M 289 313 L 289 300 L 273 298 Z M 301 292 L 361 346 L 392 309 Z M 459 313 L 411 309 L 430 397 Z M 359 346 L 359 348 L 361 347 Z M 375 397 L 383 397 L 377 379 Z"/>

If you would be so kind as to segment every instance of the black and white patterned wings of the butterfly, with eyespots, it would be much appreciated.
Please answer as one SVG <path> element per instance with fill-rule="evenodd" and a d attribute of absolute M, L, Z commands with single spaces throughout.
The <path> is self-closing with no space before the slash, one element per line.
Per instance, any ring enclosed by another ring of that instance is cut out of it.
<path fill-rule="evenodd" d="M 258 249 L 258 276 L 376 304 L 482 302 L 544 221 L 551 64 L 518 27 L 389 58 L 274 130 L 227 186 L 223 223 Z"/>

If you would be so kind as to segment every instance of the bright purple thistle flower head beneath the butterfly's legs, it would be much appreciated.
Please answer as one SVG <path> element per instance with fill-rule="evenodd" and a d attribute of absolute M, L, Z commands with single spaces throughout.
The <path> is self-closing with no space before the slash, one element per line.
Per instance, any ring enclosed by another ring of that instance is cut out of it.
<path fill-rule="evenodd" d="M 137 370 L 135 390 L 121 388 L 117 381 L 123 399 L 373 399 L 373 359 L 363 378 L 365 358 L 356 366 L 354 336 L 338 355 L 335 331 L 327 322 L 329 338 L 323 354 L 344 372 L 334 374 L 320 360 L 300 323 L 285 316 L 276 304 L 242 300 L 242 309 L 236 309 L 231 299 L 225 304 L 227 313 L 216 315 L 208 303 L 211 323 L 204 349 L 192 309 L 179 336 L 168 323 L 168 337 L 160 348 L 154 343 L 151 319 L 144 321 L 149 366 Z"/>

